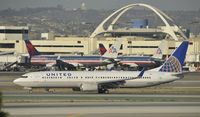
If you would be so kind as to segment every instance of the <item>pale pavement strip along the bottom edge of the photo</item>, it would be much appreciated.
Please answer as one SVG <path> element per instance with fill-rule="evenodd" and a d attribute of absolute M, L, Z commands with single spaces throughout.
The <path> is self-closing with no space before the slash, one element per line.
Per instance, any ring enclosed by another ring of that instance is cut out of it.
<path fill-rule="evenodd" d="M 199 117 L 200 102 L 82 102 L 5 105 L 11 117 Z"/>

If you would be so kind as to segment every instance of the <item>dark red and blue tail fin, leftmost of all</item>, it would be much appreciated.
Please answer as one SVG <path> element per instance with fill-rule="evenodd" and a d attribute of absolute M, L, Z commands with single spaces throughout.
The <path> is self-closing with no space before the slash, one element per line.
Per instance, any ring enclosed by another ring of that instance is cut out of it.
<path fill-rule="evenodd" d="M 26 43 L 26 48 L 30 57 L 35 55 L 40 55 L 40 53 L 37 51 L 37 49 L 32 45 L 32 43 L 29 40 L 24 40 L 24 41 Z"/>

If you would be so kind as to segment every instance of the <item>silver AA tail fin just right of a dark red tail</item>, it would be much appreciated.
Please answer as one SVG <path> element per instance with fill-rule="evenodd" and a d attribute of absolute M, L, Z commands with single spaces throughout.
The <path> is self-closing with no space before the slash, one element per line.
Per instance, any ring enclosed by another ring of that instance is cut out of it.
<path fill-rule="evenodd" d="M 105 52 L 103 57 L 117 58 L 123 39 L 117 38 L 115 43 Z"/>

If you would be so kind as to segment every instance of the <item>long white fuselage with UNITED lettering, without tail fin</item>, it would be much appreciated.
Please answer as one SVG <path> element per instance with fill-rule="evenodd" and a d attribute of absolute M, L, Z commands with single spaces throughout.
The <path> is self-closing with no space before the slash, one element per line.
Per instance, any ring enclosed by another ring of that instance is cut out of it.
<path fill-rule="evenodd" d="M 133 71 L 46 71 L 32 72 L 23 75 L 26 78 L 14 80 L 20 86 L 35 88 L 76 88 L 84 84 L 112 83 L 125 81 L 119 87 L 148 87 L 180 79 L 173 73 L 146 71 L 142 77 L 137 77 L 140 72 Z"/>

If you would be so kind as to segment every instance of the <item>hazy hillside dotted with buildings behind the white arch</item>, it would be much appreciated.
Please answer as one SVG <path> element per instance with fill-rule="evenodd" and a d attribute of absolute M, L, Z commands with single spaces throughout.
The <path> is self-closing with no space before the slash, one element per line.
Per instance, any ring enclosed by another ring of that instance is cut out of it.
<path fill-rule="evenodd" d="M 114 10 L 65 10 L 58 7 L 6 9 L 0 11 L 0 25 L 28 25 L 32 38 L 39 38 L 41 32 L 56 35 L 88 36 L 98 24 Z M 165 11 L 178 25 L 200 33 L 200 11 Z M 116 27 L 131 26 L 132 19 L 149 19 L 150 26 L 161 24 L 156 16 L 145 10 L 133 10 L 125 14 Z"/>

